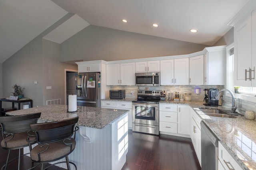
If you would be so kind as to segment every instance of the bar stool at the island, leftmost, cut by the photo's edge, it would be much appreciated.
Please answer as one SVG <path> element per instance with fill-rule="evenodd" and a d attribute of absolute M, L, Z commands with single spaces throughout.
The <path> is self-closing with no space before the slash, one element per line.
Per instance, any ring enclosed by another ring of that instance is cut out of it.
<path fill-rule="evenodd" d="M 24 147 L 29 147 L 31 150 L 31 145 L 36 143 L 36 135 L 31 131 L 30 124 L 37 123 L 38 118 L 41 113 L 33 113 L 28 115 L 18 115 L 18 116 L 0 116 L 0 125 L 2 128 L 2 136 L 4 139 L 1 141 L 1 147 L 7 149 L 8 156 L 6 159 L 6 164 L 2 166 L 1 170 L 4 168 L 6 170 L 9 160 L 10 151 L 19 149 L 18 155 L 18 170 L 20 169 L 20 157 L 26 154 L 22 154 L 20 149 Z M 30 134 L 30 137 L 28 137 Z M 28 142 L 28 140 L 30 142 Z M 28 153 L 27 153 L 28 154 Z"/>

